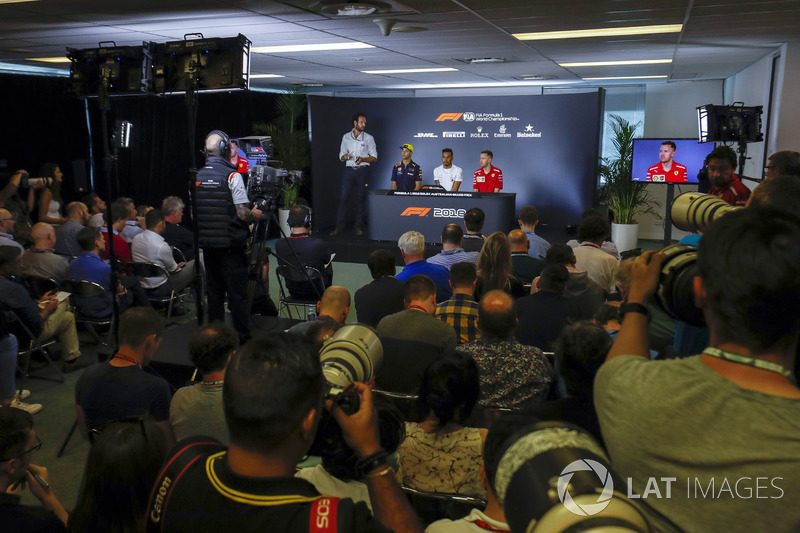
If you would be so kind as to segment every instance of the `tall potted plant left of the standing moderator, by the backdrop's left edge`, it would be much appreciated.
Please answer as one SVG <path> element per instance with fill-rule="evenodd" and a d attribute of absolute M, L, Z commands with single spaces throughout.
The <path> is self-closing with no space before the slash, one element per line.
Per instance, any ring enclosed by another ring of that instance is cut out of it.
<path fill-rule="evenodd" d="M 279 94 L 275 99 L 276 116 L 272 122 L 253 124 L 253 133 L 269 135 L 275 158 L 288 173 L 283 185 L 278 221 L 286 233 L 289 209 L 298 204 L 303 174 L 311 166 L 311 143 L 308 139 L 308 107 L 306 96 L 297 91 Z"/>

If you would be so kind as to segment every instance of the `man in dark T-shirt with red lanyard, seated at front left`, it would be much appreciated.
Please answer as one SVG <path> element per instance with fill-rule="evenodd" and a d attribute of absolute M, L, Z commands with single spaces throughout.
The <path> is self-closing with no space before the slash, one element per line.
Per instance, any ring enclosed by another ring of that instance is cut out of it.
<path fill-rule="evenodd" d="M 122 314 L 117 353 L 86 370 L 75 385 L 75 412 L 84 437 L 101 424 L 147 412 L 164 432 L 168 447 L 175 444 L 169 384 L 144 371 L 163 336 L 164 322 L 152 308 L 136 307 Z"/>

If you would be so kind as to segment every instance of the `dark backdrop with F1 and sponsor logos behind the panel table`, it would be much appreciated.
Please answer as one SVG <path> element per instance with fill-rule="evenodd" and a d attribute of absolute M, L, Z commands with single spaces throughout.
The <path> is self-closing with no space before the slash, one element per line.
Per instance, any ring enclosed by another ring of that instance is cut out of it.
<path fill-rule="evenodd" d="M 352 128 L 353 114 L 362 111 L 367 115 L 366 131 L 378 148 L 370 188 L 391 188 L 399 147 L 412 143 L 423 184 L 433 184 L 441 149 L 450 147 L 454 163 L 464 171 L 462 190 L 471 191 L 480 151 L 489 149 L 494 152 L 493 164 L 503 171 L 503 192 L 517 194 L 517 210 L 535 205 L 542 223 L 563 235 L 594 200 L 602 105 L 602 91 L 502 98 L 312 96 L 315 224 L 325 228 L 335 223 L 343 167 L 339 145 Z"/>

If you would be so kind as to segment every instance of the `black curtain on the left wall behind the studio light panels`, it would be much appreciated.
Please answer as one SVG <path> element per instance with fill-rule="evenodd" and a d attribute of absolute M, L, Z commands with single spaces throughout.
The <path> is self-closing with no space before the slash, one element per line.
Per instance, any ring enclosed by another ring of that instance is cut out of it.
<path fill-rule="evenodd" d="M 75 199 L 69 182 L 71 162 L 89 158 L 84 100 L 68 94 L 66 78 L 0 75 L 0 159 L 12 169 L 34 175 L 48 161 L 59 163 L 68 180 L 64 198 Z M 156 204 L 165 196 L 187 197 L 191 152 L 202 165 L 205 135 L 221 129 L 232 137 L 250 135 L 254 122 L 271 121 L 275 95 L 254 91 L 202 93 L 197 96 L 197 127 L 190 142 L 188 113 L 182 95 L 114 97 L 108 112 L 109 132 L 116 120 L 133 124 L 131 148 L 121 150 L 119 189 L 137 203 Z M 95 189 L 109 199 L 103 175 L 100 112 L 89 99 L 95 163 Z M 187 217 L 188 219 L 188 217 Z"/>

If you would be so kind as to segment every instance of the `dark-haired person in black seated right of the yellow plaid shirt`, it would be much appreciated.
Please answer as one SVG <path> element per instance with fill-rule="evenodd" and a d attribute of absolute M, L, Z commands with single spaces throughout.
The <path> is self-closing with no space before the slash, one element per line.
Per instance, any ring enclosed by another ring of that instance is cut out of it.
<path fill-rule="evenodd" d="M 551 351 L 552 343 L 573 314 L 564 298 L 569 274 L 566 267 L 551 263 L 536 280 L 538 291 L 517 300 L 516 336 L 522 344 Z"/>

